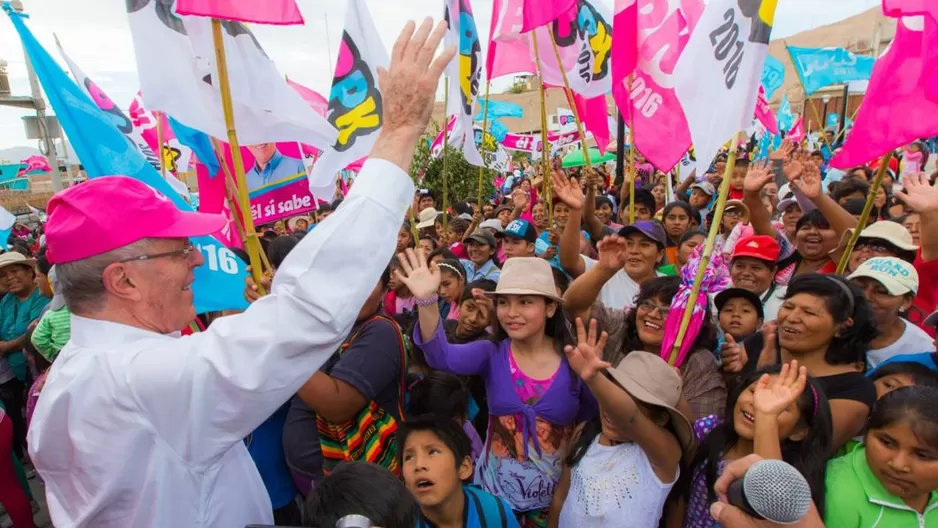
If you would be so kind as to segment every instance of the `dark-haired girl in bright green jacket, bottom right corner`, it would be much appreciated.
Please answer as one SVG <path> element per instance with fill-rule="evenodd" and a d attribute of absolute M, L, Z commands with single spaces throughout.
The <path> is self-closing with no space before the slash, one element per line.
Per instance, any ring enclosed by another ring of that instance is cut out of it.
<path fill-rule="evenodd" d="M 828 464 L 827 528 L 938 526 L 935 402 L 938 389 L 929 386 L 876 402 L 865 445 Z"/>

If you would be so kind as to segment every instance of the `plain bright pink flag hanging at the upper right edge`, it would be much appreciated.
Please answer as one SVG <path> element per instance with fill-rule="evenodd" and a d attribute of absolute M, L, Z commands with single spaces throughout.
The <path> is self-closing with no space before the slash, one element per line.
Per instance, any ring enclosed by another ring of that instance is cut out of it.
<path fill-rule="evenodd" d="M 863 165 L 935 135 L 938 100 L 928 96 L 928 81 L 935 71 L 928 69 L 927 57 L 936 48 L 938 22 L 930 16 L 898 20 L 896 38 L 873 66 L 863 105 L 843 149 L 831 160 L 832 167 Z"/>

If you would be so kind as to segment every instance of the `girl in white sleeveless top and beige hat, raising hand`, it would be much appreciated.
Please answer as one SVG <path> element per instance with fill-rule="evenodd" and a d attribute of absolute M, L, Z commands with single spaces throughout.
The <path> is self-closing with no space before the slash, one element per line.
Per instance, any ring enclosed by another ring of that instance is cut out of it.
<path fill-rule="evenodd" d="M 600 417 L 579 431 L 554 492 L 551 526 L 656 528 L 680 474 L 693 428 L 677 406 L 681 377 L 659 356 L 632 352 L 615 368 L 602 361 L 607 335 L 596 321 L 567 358 L 599 401 Z M 612 379 L 606 376 L 608 374 Z"/>

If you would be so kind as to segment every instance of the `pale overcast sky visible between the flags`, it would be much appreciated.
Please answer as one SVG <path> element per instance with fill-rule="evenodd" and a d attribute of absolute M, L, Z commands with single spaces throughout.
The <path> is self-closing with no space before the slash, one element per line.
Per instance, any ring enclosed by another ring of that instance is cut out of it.
<path fill-rule="evenodd" d="M 612 5 L 613 0 L 600 0 Z M 672 3 L 679 0 L 669 0 Z M 343 0 L 297 0 L 304 26 L 252 26 L 257 39 L 280 73 L 319 93 L 329 91 L 332 56 L 338 50 L 345 16 Z M 117 104 L 127 108 L 139 88 L 125 0 L 23 0 L 27 25 L 37 39 L 55 51 L 53 35 L 84 72 Z M 408 20 L 442 16 L 442 0 L 366 0 L 388 50 Z M 773 38 L 783 38 L 837 22 L 880 4 L 879 0 L 779 0 Z M 492 0 L 475 0 L 473 11 L 482 35 L 488 35 Z M 483 56 L 485 39 L 483 39 Z M 0 13 L 0 58 L 8 62 L 15 95 L 28 95 L 22 46 L 6 15 Z M 63 64 L 60 60 L 60 63 Z M 502 83 L 510 83 L 503 80 Z M 498 82 L 493 82 L 494 87 Z M 440 92 L 442 94 L 442 90 Z M 26 139 L 22 117 L 28 111 L 0 107 L 0 149 L 36 146 Z M 13 160 L 18 161 L 18 160 Z"/>

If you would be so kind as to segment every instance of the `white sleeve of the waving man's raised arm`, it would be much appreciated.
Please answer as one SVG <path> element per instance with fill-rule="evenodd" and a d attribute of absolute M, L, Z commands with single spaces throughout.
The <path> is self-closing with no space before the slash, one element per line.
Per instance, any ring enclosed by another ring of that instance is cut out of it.
<path fill-rule="evenodd" d="M 404 171 L 368 160 L 342 206 L 277 269 L 270 295 L 205 332 L 127 354 L 127 386 L 157 434 L 187 460 L 212 462 L 283 405 L 348 335 L 413 195 Z"/>

